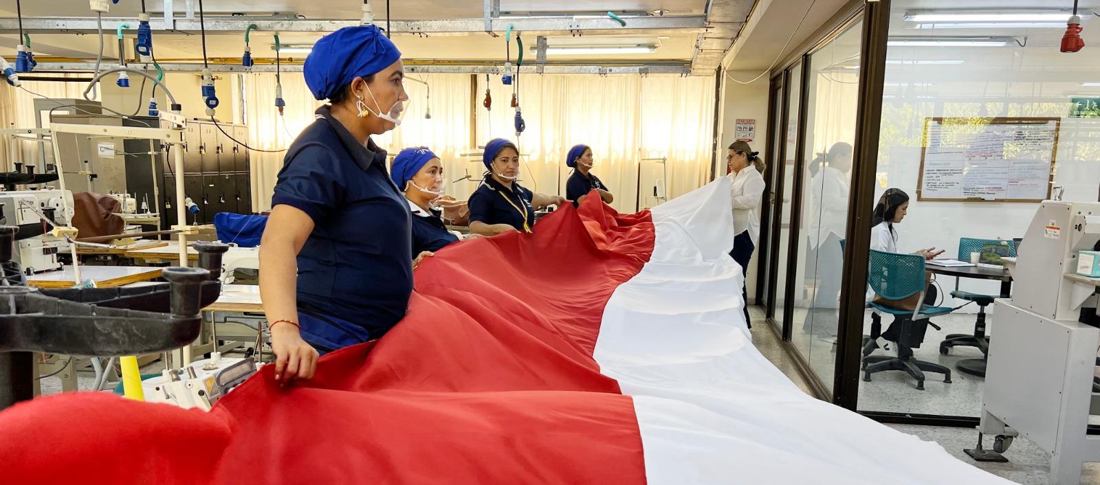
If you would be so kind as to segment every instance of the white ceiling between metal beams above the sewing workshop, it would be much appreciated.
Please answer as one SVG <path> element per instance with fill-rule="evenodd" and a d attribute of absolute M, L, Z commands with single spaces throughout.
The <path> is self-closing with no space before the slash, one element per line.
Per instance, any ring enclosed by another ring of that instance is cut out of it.
<path fill-rule="evenodd" d="M 529 11 L 558 11 L 579 12 L 594 10 L 615 11 L 652 11 L 656 9 L 668 9 L 669 14 L 702 14 L 707 0 L 610 0 L 600 2 L 584 0 L 502 0 L 502 11 L 529 12 Z M 0 16 L 14 16 L 14 0 L 0 0 Z M 177 16 L 183 16 L 186 0 L 174 0 Z M 146 0 L 151 12 L 160 12 L 163 5 L 162 0 Z M 197 5 L 197 2 L 196 2 Z M 385 19 L 385 2 L 373 1 L 375 19 Z M 196 7 L 197 8 L 197 7 Z M 312 19 L 359 19 L 362 3 L 360 0 L 205 0 L 205 11 L 210 14 L 224 15 L 230 13 L 248 14 L 271 14 L 276 12 L 293 12 Z M 392 1 L 392 13 L 395 20 L 425 20 L 425 19 L 462 19 L 481 18 L 483 15 L 483 3 L 477 0 L 394 0 Z M 139 0 L 121 0 L 118 4 L 112 4 L 109 16 L 130 16 L 140 12 Z M 64 1 L 23 1 L 23 14 L 25 16 L 90 16 L 87 2 L 84 0 Z M 154 16 L 158 13 L 154 14 Z M 384 23 L 382 20 L 380 24 Z M 128 37 L 133 37 L 131 31 Z M 267 32 L 252 33 L 252 56 L 254 58 L 274 58 L 272 45 L 274 38 Z M 154 52 L 157 59 L 162 62 L 187 62 L 201 59 L 201 43 L 197 35 L 184 35 L 154 31 Z M 288 33 L 280 35 L 283 44 L 309 45 L 317 41 L 320 34 Z M 685 62 L 692 58 L 694 52 L 696 34 L 673 33 L 670 38 L 658 38 L 654 36 L 638 35 L 593 35 L 586 33 L 581 40 L 565 35 L 563 37 L 550 37 L 550 45 L 561 43 L 581 42 L 584 44 L 630 44 L 645 43 L 657 44 L 659 47 L 652 54 L 631 55 L 600 55 L 572 57 L 550 56 L 550 60 L 570 62 L 593 62 L 593 60 L 635 60 L 635 62 L 660 62 L 678 60 Z M 113 35 L 105 35 L 107 58 L 117 58 L 116 40 Z M 32 46 L 38 57 L 75 57 L 84 59 L 95 59 L 98 49 L 96 35 L 75 34 L 34 34 Z M 534 45 L 535 38 L 525 41 Z M 395 35 L 394 42 L 402 49 L 405 58 L 409 59 L 477 59 L 477 60 L 503 60 L 505 58 L 505 45 L 503 38 L 494 38 L 483 33 L 471 35 L 448 35 L 417 37 L 413 35 Z M 0 35 L 0 55 L 14 55 L 14 46 L 18 44 L 16 35 Z M 207 33 L 207 55 L 210 58 L 240 58 L 244 47 L 243 33 Z M 512 45 L 512 57 L 515 58 L 515 43 Z M 287 55 L 284 54 L 284 58 Z M 304 54 L 289 54 L 289 56 L 301 58 Z M 526 60 L 534 60 L 530 51 L 525 53 Z"/>

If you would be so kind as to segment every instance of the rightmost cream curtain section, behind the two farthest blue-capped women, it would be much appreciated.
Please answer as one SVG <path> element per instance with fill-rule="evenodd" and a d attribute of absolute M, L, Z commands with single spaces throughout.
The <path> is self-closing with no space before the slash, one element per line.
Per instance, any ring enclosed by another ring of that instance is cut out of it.
<path fill-rule="evenodd" d="M 571 173 L 565 154 L 576 144 L 592 147 L 593 174 L 615 195 L 612 206 L 619 211 L 658 203 L 653 185 L 671 198 L 710 179 L 714 77 L 522 75 L 518 93 L 527 129 L 518 137 L 514 87 L 491 76 L 493 109 L 486 113 L 485 76 L 477 81 L 477 144 L 498 136 L 518 141 L 527 162 L 522 184 L 532 190 L 564 195 Z M 642 158 L 667 158 L 667 165 Z M 475 168 L 482 170 L 480 158 L 472 159 Z"/>

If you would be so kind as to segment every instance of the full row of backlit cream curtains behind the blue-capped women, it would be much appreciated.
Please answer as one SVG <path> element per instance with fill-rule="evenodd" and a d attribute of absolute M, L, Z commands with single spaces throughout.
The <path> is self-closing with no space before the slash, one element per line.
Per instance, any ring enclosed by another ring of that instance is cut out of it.
<path fill-rule="evenodd" d="M 466 175 L 480 179 L 484 166 L 477 146 L 496 136 L 518 142 L 525 155 L 521 183 L 547 194 L 564 195 L 570 174 L 564 157 L 569 148 L 574 144 L 592 146 L 596 158 L 593 173 L 615 194 L 613 206 L 620 211 L 634 212 L 636 202 L 641 207 L 656 205 L 658 200 L 651 195 L 658 179 L 670 198 L 710 179 L 713 77 L 522 75 L 519 103 L 527 130 L 517 137 L 515 110 L 509 106 L 513 86 L 504 86 L 499 76 L 488 80 L 493 95 L 488 112 L 482 106 L 484 75 L 410 76 L 430 85 L 430 98 L 426 86 L 406 80 L 410 102 L 404 122 L 375 137 L 375 143 L 391 154 L 407 146 L 428 146 L 442 157 L 448 181 Z M 320 104 L 312 99 L 300 73 L 284 74 L 284 128 L 274 108 L 274 75 L 245 76 L 245 109 L 253 147 L 286 147 L 314 121 L 312 111 Z M 430 120 L 425 118 L 429 104 Z M 257 210 L 270 208 L 283 155 L 252 155 L 253 206 Z M 650 157 L 667 158 L 667 166 L 641 161 Z M 638 197 L 639 164 L 642 197 Z M 667 176 L 662 168 L 667 168 Z M 476 181 L 463 179 L 450 184 L 448 192 L 465 199 L 476 187 Z"/>

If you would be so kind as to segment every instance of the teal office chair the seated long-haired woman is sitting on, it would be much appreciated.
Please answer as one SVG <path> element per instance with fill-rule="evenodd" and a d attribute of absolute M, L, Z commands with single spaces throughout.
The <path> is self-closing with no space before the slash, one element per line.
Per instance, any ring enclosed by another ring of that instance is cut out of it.
<path fill-rule="evenodd" d="M 867 272 L 867 283 L 871 285 L 875 294 L 887 299 L 899 300 L 921 294 L 920 300 L 924 300 L 926 289 L 924 279 L 924 256 L 919 254 L 898 254 L 883 251 L 871 250 L 870 267 Z M 932 362 L 917 361 L 913 359 L 913 348 L 920 346 L 920 341 L 915 342 L 914 334 L 923 335 L 917 331 L 916 326 L 932 324 L 930 317 L 950 313 L 948 307 L 932 307 L 921 305 L 913 310 L 902 310 L 871 301 L 870 307 L 875 310 L 871 315 L 872 330 L 871 339 L 864 348 L 864 381 L 871 382 L 871 374 L 882 371 L 904 371 L 916 379 L 916 388 L 924 390 L 924 372 L 936 372 L 944 375 L 944 382 L 950 384 L 952 371 L 943 365 Z M 878 313 L 889 313 L 894 316 L 891 326 L 900 326 L 898 338 L 898 356 L 868 355 L 875 350 L 875 339 L 878 333 L 875 329 L 880 328 Z M 933 327 L 935 327 L 933 324 Z M 938 328 L 938 327 L 937 327 Z M 917 338 L 919 339 L 919 338 Z"/>

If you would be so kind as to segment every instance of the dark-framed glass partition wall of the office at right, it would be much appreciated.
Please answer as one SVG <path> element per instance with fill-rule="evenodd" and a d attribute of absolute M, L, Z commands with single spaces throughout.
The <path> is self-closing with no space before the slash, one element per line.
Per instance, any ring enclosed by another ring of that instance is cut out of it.
<path fill-rule="evenodd" d="M 864 268 L 872 221 L 879 222 L 876 202 L 888 189 L 905 194 L 904 217 L 895 210 L 888 225 L 894 252 L 934 247 L 941 257 L 969 260 L 964 239 L 1021 238 L 1037 200 L 1056 192 L 1097 200 L 1100 49 L 1060 53 L 1064 25 L 922 24 L 906 14 L 942 10 L 938 0 L 849 8 L 847 19 L 831 21 L 833 29 L 773 73 L 782 102 L 772 103 L 769 147 L 779 150 L 773 159 L 782 167 L 772 179 L 769 321 L 818 397 L 880 420 L 974 426 L 985 346 L 945 342 L 980 334 L 979 319 L 985 338 L 996 340 L 998 316 L 994 306 L 952 293 L 1005 296 L 1011 280 L 936 274 L 938 295 L 928 302 L 954 310 L 908 339 L 887 335 L 870 352 L 911 352 L 909 359 L 949 370 L 950 383 L 927 371 L 923 389 L 904 371 L 865 379 L 862 344 L 872 329 L 870 312 L 861 310 Z M 950 5 L 997 8 L 979 0 Z M 1028 148 L 1032 137 L 998 128 L 1032 124 L 1056 131 L 1040 155 Z M 971 143 L 978 139 L 998 141 Z M 891 322 L 882 316 L 878 330 Z M 906 340 L 906 349 L 897 340 Z"/>

